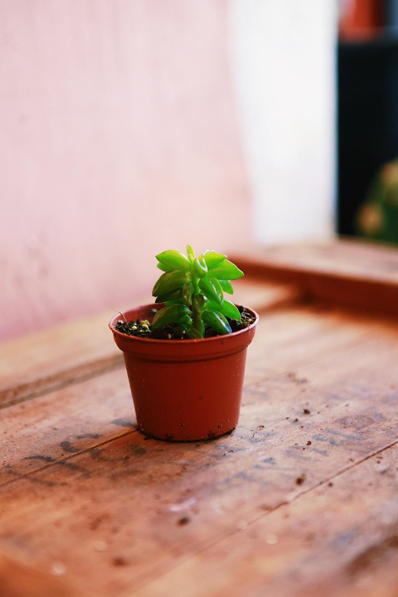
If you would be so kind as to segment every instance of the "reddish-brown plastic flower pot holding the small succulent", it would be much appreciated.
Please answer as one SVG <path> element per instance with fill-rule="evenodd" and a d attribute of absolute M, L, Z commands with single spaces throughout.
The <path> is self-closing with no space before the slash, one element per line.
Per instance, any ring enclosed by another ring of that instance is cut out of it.
<path fill-rule="evenodd" d="M 124 313 L 127 321 L 149 319 L 148 304 Z M 140 429 L 169 441 L 215 438 L 237 425 L 242 399 L 246 350 L 258 315 L 247 328 L 199 340 L 151 340 L 116 330 L 120 315 L 109 322 L 123 351 Z"/>

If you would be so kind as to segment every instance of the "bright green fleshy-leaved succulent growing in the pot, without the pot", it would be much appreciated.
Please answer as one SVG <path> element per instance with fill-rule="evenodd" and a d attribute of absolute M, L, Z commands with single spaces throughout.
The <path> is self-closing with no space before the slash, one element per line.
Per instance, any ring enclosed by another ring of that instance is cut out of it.
<path fill-rule="evenodd" d="M 187 256 L 181 251 L 163 251 L 156 259 L 164 273 L 152 295 L 156 303 L 165 306 L 153 318 L 153 330 L 177 324 L 190 338 L 203 338 L 205 325 L 218 334 L 232 332 L 226 318 L 240 321 L 240 313 L 235 304 L 224 298 L 224 292 L 233 294 L 231 280 L 244 275 L 239 267 L 215 251 L 195 257 L 190 245 Z"/>

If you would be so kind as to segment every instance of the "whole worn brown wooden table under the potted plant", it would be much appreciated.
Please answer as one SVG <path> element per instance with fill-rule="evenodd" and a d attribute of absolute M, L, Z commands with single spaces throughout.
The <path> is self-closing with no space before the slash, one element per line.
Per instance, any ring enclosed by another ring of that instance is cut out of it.
<path fill-rule="evenodd" d="M 0 347 L 1 597 L 398 595 L 397 251 L 255 263 L 239 426 L 215 441 L 137 431 L 110 313 Z"/>

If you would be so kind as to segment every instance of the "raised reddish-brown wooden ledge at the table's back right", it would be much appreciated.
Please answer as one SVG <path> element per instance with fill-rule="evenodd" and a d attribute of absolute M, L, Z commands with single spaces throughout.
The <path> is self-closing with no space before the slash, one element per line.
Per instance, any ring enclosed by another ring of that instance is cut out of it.
<path fill-rule="evenodd" d="M 396 248 L 332 240 L 317 245 L 252 248 L 233 259 L 259 279 L 300 285 L 307 297 L 398 315 Z"/>

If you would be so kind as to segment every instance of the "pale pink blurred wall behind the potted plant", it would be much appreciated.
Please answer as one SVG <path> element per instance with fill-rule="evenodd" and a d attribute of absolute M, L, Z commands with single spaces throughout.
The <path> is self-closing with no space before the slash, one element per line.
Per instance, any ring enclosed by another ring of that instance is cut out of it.
<path fill-rule="evenodd" d="M 0 0 L 0 338 L 235 250 L 248 192 L 223 0 Z"/>

